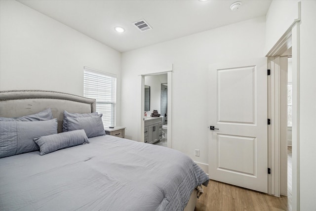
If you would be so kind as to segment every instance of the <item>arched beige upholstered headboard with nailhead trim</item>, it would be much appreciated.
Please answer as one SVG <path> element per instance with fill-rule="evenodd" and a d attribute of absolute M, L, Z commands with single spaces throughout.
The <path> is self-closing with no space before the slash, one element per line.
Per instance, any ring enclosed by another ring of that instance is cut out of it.
<path fill-rule="evenodd" d="M 0 91 L 0 117 L 22 117 L 50 108 L 62 131 L 63 112 L 95 112 L 95 99 L 73 94 L 43 90 Z"/>

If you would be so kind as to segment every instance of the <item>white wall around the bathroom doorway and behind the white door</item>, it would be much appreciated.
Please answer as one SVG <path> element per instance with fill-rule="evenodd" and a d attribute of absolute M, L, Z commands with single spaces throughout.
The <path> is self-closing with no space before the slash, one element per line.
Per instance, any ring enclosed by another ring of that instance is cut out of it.
<path fill-rule="evenodd" d="M 172 148 L 208 164 L 208 66 L 264 57 L 265 17 L 122 53 L 121 123 L 140 140 L 141 74 L 172 73 Z M 130 104 L 128 102 L 134 102 Z M 129 118 L 124 118 L 129 117 Z M 200 157 L 194 150 L 200 150 Z"/>

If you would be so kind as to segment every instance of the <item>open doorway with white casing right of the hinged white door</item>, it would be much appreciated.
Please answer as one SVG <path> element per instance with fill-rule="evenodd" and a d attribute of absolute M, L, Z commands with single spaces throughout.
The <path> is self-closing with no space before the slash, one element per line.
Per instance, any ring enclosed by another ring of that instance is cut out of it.
<path fill-rule="evenodd" d="M 275 95 L 271 98 L 269 106 L 274 110 L 270 133 L 270 147 L 268 156 L 269 165 L 275 169 L 273 174 L 269 174 L 268 193 L 280 196 L 288 195 L 289 209 L 299 210 L 299 20 L 293 22 L 290 28 L 283 34 L 281 39 L 266 55 L 268 57 L 268 69 L 275 73 L 275 78 L 271 80 L 272 93 Z M 288 153 L 287 153 L 287 75 L 282 77 L 280 73 L 286 70 L 288 66 L 288 56 L 292 57 L 292 156 L 291 156 L 291 181 L 287 181 Z M 277 73 L 277 74 L 276 74 Z M 281 76 L 281 77 L 280 77 Z M 283 94 L 280 94 L 280 84 L 283 84 Z M 269 87 L 269 86 L 268 86 Z M 281 102 L 283 102 L 281 104 Z M 283 107 L 282 107 L 283 106 Z M 282 115 L 280 115 L 282 114 Z M 280 126 L 283 122 L 283 126 Z M 269 130 L 268 130 L 269 131 Z M 288 182 L 291 185 L 291 195 L 288 194 Z"/>

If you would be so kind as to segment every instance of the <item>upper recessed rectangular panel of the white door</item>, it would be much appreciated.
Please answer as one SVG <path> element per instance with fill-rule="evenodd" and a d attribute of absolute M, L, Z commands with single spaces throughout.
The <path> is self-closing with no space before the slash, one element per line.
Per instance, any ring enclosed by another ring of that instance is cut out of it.
<path fill-rule="evenodd" d="M 254 124 L 254 74 L 253 66 L 218 71 L 218 122 Z"/>

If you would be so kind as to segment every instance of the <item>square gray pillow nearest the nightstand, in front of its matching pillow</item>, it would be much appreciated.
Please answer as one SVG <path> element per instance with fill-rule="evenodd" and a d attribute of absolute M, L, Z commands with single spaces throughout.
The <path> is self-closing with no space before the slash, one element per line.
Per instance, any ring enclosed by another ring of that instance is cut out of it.
<path fill-rule="evenodd" d="M 68 131 L 84 129 L 88 138 L 105 135 L 102 114 L 93 117 L 67 117 L 68 119 Z"/>

